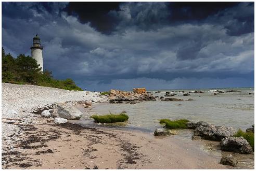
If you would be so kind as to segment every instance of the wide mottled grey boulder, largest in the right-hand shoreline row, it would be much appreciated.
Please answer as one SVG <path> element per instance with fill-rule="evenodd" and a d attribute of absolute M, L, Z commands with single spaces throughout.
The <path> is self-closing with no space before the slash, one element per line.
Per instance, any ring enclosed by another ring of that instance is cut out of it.
<path fill-rule="evenodd" d="M 236 130 L 233 127 L 215 126 L 210 124 L 208 126 L 198 126 L 194 130 L 194 135 L 201 136 L 203 139 L 220 141 L 221 139 L 233 136 Z"/>

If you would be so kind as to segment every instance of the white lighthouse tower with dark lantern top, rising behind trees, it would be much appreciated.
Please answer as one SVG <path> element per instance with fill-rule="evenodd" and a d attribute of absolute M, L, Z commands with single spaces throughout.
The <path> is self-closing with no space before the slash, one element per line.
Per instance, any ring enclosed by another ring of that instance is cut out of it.
<path fill-rule="evenodd" d="M 30 47 L 31 49 L 31 56 L 37 61 L 37 64 L 42 67 L 41 71 L 44 72 L 43 70 L 43 46 L 41 45 L 40 42 L 40 37 L 38 34 L 35 35 L 33 38 L 33 45 Z"/>

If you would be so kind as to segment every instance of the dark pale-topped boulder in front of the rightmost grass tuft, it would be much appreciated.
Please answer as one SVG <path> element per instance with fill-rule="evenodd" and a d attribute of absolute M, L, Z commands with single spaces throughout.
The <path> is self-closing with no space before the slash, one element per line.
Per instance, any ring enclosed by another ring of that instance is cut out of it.
<path fill-rule="evenodd" d="M 244 137 L 226 137 L 220 142 L 221 149 L 241 154 L 252 153 L 252 147 Z"/>

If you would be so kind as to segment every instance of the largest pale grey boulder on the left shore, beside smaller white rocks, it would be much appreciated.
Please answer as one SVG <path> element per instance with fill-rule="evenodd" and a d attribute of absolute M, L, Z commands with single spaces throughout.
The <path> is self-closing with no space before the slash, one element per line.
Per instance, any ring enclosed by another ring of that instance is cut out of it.
<path fill-rule="evenodd" d="M 59 103 L 57 104 L 57 113 L 60 118 L 66 119 L 80 119 L 83 113 L 76 109 L 74 106 L 70 104 Z"/>

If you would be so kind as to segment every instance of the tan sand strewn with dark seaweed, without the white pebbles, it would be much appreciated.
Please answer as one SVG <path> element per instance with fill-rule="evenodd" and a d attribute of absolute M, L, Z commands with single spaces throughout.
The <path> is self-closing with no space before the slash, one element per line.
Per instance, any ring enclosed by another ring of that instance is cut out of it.
<path fill-rule="evenodd" d="M 4 154 L 8 169 L 225 169 L 220 157 L 200 149 L 202 141 L 53 123 L 36 116 L 20 125 L 23 140 Z M 14 157 L 15 156 L 15 157 Z M 13 158 L 14 157 L 14 158 Z"/>

